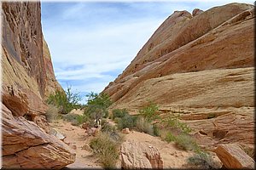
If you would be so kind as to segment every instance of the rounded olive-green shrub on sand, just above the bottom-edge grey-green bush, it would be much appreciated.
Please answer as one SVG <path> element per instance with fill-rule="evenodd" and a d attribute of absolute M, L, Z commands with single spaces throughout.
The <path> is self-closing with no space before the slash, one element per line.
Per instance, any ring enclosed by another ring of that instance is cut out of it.
<path fill-rule="evenodd" d="M 200 151 L 199 145 L 195 142 L 195 139 L 188 134 L 179 134 L 175 137 L 175 144 L 182 150 L 192 150 L 195 152 Z"/>

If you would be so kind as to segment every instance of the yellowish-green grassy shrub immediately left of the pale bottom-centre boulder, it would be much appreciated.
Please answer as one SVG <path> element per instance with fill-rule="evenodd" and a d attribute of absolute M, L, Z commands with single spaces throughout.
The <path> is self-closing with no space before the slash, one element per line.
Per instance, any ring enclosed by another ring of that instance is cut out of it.
<path fill-rule="evenodd" d="M 90 141 L 90 147 L 104 168 L 115 167 L 119 158 L 119 144 L 120 141 L 112 139 L 108 133 L 101 133 Z"/>

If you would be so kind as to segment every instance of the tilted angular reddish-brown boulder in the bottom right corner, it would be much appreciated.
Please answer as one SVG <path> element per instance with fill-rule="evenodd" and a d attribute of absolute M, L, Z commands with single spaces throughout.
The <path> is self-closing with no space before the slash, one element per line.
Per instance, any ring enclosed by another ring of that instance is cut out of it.
<path fill-rule="evenodd" d="M 255 161 L 247 156 L 238 144 L 221 144 L 214 152 L 222 161 L 224 167 L 231 169 L 254 168 Z"/>

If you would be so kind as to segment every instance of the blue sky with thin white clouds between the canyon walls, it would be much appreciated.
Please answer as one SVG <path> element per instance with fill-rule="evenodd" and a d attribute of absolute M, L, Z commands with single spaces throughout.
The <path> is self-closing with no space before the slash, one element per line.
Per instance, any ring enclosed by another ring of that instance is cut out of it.
<path fill-rule="evenodd" d="M 238 0 L 251 3 L 250 0 Z M 55 77 L 65 90 L 101 93 L 131 63 L 175 10 L 209 8 L 221 1 L 42 1 L 42 26 Z"/>

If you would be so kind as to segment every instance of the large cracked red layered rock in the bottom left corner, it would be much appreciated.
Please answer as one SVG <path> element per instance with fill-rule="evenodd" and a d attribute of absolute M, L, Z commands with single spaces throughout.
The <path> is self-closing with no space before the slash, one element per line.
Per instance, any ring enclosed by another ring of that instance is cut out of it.
<path fill-rule="evenodd" d="M 44 132 L 24 117 L 14 117 L 3 105 L 3 167 L 61 168 L 73 163 L 75 153 L 67 144 Z"/>

